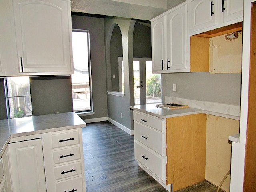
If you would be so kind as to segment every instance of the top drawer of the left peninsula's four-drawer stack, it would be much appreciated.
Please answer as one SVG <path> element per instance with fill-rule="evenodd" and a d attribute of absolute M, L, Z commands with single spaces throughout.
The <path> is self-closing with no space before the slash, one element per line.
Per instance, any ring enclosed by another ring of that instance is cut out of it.
<path fill-rule="evenodd" d="M 52 134 L 52 148 L 79 144 L 79 131 Z"/>

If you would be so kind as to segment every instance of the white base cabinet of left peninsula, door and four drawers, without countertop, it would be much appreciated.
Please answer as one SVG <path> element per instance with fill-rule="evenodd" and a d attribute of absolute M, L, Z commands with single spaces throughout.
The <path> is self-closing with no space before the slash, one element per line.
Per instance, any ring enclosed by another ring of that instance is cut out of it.
<path fill-rule="evenodd" d="M 7 149 L 12 190 L 6 192 L 86 191 L 82 128 L 11 138 Z"/>

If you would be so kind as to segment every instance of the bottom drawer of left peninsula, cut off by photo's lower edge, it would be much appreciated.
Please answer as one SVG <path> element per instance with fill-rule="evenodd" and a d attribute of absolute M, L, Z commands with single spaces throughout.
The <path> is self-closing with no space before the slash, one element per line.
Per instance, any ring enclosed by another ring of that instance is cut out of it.
<path fill-rule="evenodd" d="M 56 182 L 57 192 L 84 192 L 82 176 Z"/>

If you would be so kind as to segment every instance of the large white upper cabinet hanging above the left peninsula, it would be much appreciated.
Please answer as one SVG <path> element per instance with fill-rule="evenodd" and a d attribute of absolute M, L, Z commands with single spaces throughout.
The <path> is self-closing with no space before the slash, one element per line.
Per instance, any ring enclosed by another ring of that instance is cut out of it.
<path fill-rule="evenodd" d="M 0 16 L 0 76 L 74 73 L 70 0 L 1 0 Z"/>

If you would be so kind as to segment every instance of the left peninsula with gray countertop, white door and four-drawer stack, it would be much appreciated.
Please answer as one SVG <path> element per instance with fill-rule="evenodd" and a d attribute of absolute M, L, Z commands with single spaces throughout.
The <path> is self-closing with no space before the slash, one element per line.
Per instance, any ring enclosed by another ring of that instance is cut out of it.
<path fill-rule="evenodd" d="M 85 126 L 74 112 L 0 120 L 0 188 L 85 191 Z"/>

